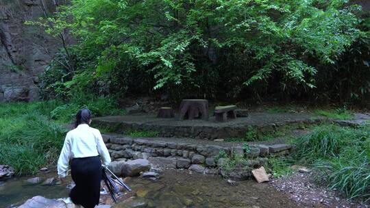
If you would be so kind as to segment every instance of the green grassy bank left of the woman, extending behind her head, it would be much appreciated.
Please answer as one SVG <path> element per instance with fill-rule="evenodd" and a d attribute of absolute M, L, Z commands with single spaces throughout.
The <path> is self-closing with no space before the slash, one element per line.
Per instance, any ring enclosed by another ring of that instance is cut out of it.
<path fill-rule="evenodd" d="M 77 102 L 77 101 L 76 101 Z M 35 174 L 42 166 L 55 164 L 64 142 L 66 123 L 78 109 L 88 107 L 94 116 L 122 114 L 110 99 L 2 103 L 0 105 L 0 164 L 16 174 Z"/>

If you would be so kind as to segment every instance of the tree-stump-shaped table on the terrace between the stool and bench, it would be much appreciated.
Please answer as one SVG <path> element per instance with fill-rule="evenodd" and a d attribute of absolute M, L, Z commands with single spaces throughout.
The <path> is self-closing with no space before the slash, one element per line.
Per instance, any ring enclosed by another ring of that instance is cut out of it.
<path fill-rule="evenodd" d="M 180 104 L 180 120 L 198 118 L 208 120 L 208 101 L 203 99 L 184 99 Z"/>

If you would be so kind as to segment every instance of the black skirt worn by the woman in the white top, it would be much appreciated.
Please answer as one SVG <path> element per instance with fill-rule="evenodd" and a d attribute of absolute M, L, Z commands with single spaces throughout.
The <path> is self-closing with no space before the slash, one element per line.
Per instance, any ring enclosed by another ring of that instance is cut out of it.
<path fill-rule="evenodd" d="M 69 197 L 75 205 L 94 208 L 99 204 L 101 172 L 99 156 L 72 159 L 71 175 L 76 185 Z"/>

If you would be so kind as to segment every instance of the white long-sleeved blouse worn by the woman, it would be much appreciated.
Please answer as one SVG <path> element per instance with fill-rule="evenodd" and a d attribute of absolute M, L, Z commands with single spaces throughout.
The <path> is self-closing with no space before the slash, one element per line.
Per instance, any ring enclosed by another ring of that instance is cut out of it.
<path fill-rule="evenodd" d="M 103 166 L 110 164 L 110 155 L 106 144 L 103 142 L 100 131 L 86 124 L 78 125 L 77 128 L 66 134 L 62 152 L 58 159 L 59 177 L 66 177 L 66 171 L 68 170 L 71 159 L 98 155 L 101 157 Z"/>

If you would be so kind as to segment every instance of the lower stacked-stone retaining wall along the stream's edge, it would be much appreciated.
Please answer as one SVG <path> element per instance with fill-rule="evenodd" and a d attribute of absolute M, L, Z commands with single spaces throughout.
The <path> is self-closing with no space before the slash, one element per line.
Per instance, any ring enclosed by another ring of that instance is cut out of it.
<path fill-rule="evenodd" d="M 295 146 L 291 144 L 254 144 L 243 148 L 238 145 L 224 147 L 164 142 L 153 138 L 120 138 L 111 135 L 103 135 L 103 138 L 113 160 L 143 158 L 164 164 L 166 168 L 189 168 L 193 164 L 215 168 L 223 164 L 224 159 L 217 158 L 220 151 L 225 151 L 229 156 L 238 155 L 249 159 L 251 167 L 254 167 L 269 156 L 288 155 L 295 151 Z"/>

